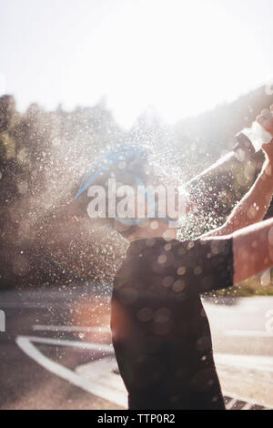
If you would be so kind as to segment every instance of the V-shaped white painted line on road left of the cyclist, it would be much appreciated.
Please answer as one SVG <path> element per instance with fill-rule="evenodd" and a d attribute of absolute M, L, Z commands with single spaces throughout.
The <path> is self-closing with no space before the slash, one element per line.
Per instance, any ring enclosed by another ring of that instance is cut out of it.
<path fill-rule="evenodd" d="M 44 338 L 38 337 L 27 337 L 27 336 L 19 336 L 16 339 L 16 343 L 19 348 L 25 352 L 31 359 L 44 367 L 48 372 L 56 374 L 60 378 L 76 385 L 78 388 L 82 390 L 92 393 L 98 397 L 101 397 L 111 403 L 115 403 L 118 406 L 126 407 L 126 397 L 123 392 L 119 392 L 113 390 L 112 388 L 107 387 L 104 384 L 100 384 L 99 382 L 90 382 L 86 380 L 84 377 L 80 376 L 76 372 L 73 372 L 66 367 L 58 364 L 57 362 L 53 362 L 49 358 L 45 357 L 42 352 L 38 351 L 34 346 L 35 343 L 44 343 L 44 344 L 56 344 L 58 346 L 73 346 L 83 348 L 81 345 L 84 345 L 85 349 L 97 351 L 105 349 L 106 352 L 113 352 L 113 348 L 110 345 L 101 345 L 100 343 L 81 343 L 81 342 L 72 342 L 73 344 L 69 344 L 69 341 L 56 341 L 56 340 L 48 340 Z"/>

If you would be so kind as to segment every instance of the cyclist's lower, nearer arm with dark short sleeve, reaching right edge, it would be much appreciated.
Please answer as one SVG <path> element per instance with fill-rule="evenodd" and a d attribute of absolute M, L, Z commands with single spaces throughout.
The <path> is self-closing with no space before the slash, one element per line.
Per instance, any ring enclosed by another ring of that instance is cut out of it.
<path fill-rule="evenodd" d="M 232 235 L 197 240 L 202 241 L 207 241 L 209 249 L 205 244 L 200 247 L 204 260 L 204 278 L 200 277 L 199 287 L 202 292 L 239 284 L 273 268 L 273 219 L 260 221 Z"/>

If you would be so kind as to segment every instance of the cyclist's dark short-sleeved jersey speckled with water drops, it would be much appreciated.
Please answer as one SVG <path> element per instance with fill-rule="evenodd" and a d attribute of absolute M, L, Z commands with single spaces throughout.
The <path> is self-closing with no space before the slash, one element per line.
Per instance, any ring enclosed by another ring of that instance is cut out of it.
<path fill-rule="evenodd" d="M 200 294 L 232 284 L 232 239 L 131 243 L 111 319 L 130 409 L 225 408 Z"/>

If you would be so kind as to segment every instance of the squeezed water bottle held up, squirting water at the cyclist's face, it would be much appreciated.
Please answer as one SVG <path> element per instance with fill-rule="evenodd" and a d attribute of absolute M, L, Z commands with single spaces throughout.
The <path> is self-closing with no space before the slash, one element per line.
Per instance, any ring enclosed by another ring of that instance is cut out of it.
<path fill-rule="evenodd" d="M 236 138 L 241 147 L 251 149 L 252 146 L 255 152 L 272 140 L 272 136 L 258 122 L 253 122 L 252 127 L 245 127 Z"/>

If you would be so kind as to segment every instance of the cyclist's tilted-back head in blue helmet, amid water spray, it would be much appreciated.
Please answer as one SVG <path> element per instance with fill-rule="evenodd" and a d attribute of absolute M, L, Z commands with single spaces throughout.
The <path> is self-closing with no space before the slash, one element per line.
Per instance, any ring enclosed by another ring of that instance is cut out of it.
<path fill-rule="evenodd" d="M 89 168 L 75 203 L 82 214 L 110 224 L 126 239 L 167 235 L 167 231 L 173 238 L 187 196 L 146 149 L 126 145 Z"/>

